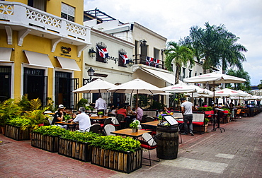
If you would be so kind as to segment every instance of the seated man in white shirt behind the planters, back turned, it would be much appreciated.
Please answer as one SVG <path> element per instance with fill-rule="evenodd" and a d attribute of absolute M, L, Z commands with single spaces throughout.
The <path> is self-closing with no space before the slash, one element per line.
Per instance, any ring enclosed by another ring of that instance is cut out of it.
<path fill-rule="evenodd" d="M 69 121 L 73 121 L 73 123 L 79 123 L 79 131 L 89 131 L 91 126 L 91 121 L 89 115 L 86 114 L 86 109 L 84 107 L 79 107 L 79 114 L 74 114 L 76 117 L 74 120 L 70 119 Z"/>

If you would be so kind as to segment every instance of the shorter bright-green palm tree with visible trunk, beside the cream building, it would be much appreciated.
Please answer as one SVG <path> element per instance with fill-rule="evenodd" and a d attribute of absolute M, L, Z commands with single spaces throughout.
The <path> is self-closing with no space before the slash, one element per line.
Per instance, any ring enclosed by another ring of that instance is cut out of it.
<path fill-rule="evenodd" d="M 166 61 L 165 65 L 169 71 L 173 71 L 172 64 L 176 66 L 176 80 L 175 84 L 178 83 L 178 79 L 181 73 L 181 67 L 187 66 L 188 62 L 190 68 L 195 64 L 193 59 L 193 50 L 189 47 L 178 45 L 176 42 L 168 42 L 166 50 Z"/>

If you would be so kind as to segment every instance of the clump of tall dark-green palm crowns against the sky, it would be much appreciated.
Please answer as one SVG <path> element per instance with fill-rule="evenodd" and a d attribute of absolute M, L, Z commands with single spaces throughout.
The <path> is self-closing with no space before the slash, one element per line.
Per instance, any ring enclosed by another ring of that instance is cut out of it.
<path fill-rule="evenodd" d="M 247 49 L 237 44 L 239 37 L 229 32 L 224 25 L 210 25 L 205 28 L 193 26 L 190 35 L 180 40 L 183 45 L 190 45 L 194 49 L 194 56 L 198 61 L 205 59 L 203 69 L 222 67 L 226 71 L 229 67 L 242 69 L 242 61 L 246 61 L 244 54 Z"/>

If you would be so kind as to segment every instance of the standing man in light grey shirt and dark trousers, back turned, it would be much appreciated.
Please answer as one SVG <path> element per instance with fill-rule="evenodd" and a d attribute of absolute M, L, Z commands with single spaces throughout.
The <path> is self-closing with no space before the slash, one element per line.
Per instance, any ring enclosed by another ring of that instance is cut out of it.
<path fill-rule="evenodd" d="M 192 102 L 186 101 L 185 97 L 181 98 L 181 109 L 182 109 L 182 114 L 183 114 L 183 124 L 184 124 L 184 130 L 185 132 L 182 133 L 182 135 L 187 135 L 188 134 L 188 124 L 189 124 L 189 133 L 191 136 L 194 136 L 193 133 L 193 104 Z"/>

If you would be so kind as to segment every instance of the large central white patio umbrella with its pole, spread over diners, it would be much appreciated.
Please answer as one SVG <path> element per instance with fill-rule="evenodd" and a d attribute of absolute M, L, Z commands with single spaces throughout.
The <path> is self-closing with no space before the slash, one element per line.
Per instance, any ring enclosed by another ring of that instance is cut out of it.
<path fill-rule="evenodd" d="M 135 94 L 156 94 L 156 93 L 165 93 L 164 90 L 161 88 L 156 87 L 150 83 L 142 81 L 141 79 L 137 78 L 127 83 L 123 83 L 121 85 L 115 85 L 115 87 L 108 90 L 112 93 L 135 93 Z M 136 100 L 136 108 L 138 105 L 138 97 Z"/>

